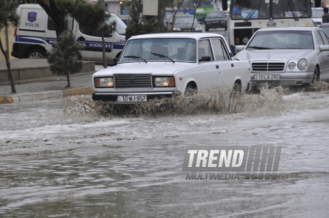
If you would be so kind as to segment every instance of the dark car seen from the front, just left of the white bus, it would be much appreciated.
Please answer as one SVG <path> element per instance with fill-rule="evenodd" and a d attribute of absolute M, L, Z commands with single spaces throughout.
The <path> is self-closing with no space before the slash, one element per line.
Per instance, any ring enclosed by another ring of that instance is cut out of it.
<path fill-rule="evenodd" d="M 225 28 L 227 30 L 227 16 L 225 11 L 210 10 L 205 18 L 205 31 L 211 28 Z"/>

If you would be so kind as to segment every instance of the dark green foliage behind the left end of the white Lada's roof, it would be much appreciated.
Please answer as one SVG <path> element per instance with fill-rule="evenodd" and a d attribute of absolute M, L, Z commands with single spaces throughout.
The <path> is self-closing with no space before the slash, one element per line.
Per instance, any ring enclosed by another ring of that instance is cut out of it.
<path fill-rule="evenodd" d="M 147 34 L 153 32 L 160 26 L 160 21 L 151 19 L 142 23 L 136 7 L 137 1 L 132 0 L 132 7 L 129 11 L 129 16 L 132 20 L 128 23 L 126 28 L 126 40 L 135 35 Z"/>

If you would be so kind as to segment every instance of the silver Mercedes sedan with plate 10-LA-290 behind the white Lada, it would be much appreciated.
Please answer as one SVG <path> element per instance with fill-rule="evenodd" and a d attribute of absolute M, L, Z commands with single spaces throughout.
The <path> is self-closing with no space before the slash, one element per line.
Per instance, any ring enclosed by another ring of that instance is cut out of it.
<path fill-rule="evenodd" d="M 234 58 L 250 63 L 253 86 L 329 80 L 329 37 L 318 27 L 259 29 Z"/>

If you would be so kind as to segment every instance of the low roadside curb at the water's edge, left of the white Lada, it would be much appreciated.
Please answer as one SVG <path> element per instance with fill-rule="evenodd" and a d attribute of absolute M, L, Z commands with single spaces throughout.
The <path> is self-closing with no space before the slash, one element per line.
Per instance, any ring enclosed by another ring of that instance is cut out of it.
<path fill-rule="evenodd" d="M 93 92 L 94 91 L 92 86 L 85 86 L 65 89 L 61 91 L 48 91 L 39 93 L 16 94 L 12 96 L 0 96 L 0 104 L 12 104 L 52 98 L 64 98 L 75 95 L 91 95 Z"/>

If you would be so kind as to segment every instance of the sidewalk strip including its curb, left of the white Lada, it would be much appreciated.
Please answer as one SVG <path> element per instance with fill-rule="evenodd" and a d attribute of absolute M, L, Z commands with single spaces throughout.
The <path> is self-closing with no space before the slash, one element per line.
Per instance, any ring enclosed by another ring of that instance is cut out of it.
<path fill-rule="evenodd" d="M 1 83 L 0 104 L 60 98 L 71 95 L 91 95 L 93 92 L 92 75 L 101 69 L 103 69 L 103 66 L 96 65 L 95 71 L 70 75 L 71 88 L 65 88 L 67 85 L 66 76 L 15 82 L 16 94 L 11 93 L 10 84 Z"/>

